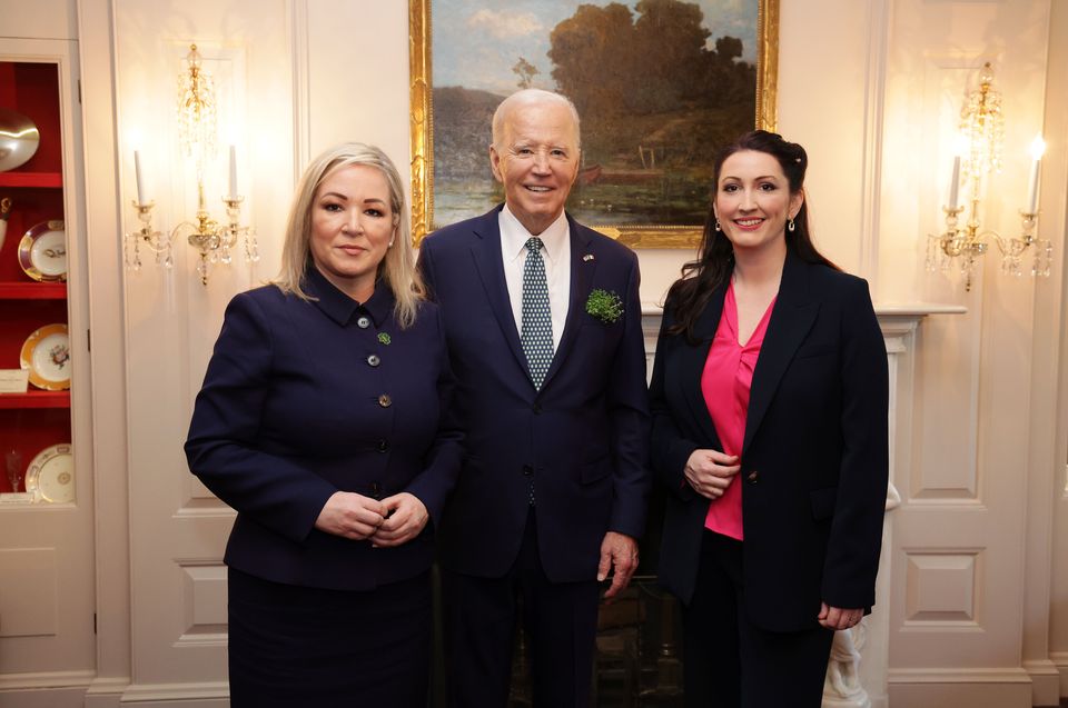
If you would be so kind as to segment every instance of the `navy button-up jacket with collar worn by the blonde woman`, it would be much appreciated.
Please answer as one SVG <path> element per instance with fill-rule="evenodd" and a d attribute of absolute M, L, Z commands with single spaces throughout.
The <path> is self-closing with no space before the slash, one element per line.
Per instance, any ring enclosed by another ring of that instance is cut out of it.
<path fill-rule="evenodd" d="M 189 469 L 238 512 L 225 558 L 238 570 L 342 590 L 414 577 L 433 561 L 431 528 L 462 450 L 458 431 L 438 428 L 452 392 L 438 308 L 422 303 L 402 330 L 382 283 L 359 305 L 314 267 L 305 282 L 317 301 L 275 286 L 230 301 L 189 426 Z M 396 548 L 319 531 L 339 490 L 409 491 L 432 521 Z"/>

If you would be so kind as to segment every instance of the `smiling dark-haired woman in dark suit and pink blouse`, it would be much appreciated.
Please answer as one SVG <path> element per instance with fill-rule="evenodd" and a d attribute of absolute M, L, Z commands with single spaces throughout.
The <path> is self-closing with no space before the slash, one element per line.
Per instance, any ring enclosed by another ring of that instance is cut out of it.
<path fill-rule="evenodd" d="M 867 283 L 812 245 L 807 166 L 774 133 L 729 146 L 664 306 L 652 458 L 686 706 L 819 707 L 833 631 L 876 601 L 886 348 Z"/>

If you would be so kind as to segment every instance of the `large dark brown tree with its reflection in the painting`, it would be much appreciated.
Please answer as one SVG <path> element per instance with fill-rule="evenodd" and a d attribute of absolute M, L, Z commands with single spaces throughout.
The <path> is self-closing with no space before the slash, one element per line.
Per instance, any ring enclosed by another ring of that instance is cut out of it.
<path fill-rule="evenodd" d="M 596 183 L 644 187 L 644 211 L 670 221 L 706 185 L 718 147 L 752 126 L 755 68 L 739 61 L 740 39 L 706 48 L 695 4 L 641 0 L 635 9 L 580 6 L 553 29 L 548 57 L 583 117 Z"/>

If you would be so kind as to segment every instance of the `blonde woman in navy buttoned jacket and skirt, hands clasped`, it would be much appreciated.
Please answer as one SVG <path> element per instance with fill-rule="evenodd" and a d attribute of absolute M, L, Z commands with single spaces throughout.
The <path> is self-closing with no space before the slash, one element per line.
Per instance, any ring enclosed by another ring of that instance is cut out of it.
<path fill-rule="evenodd" d="M 380 150 L 323 153 L 280 277 L 227 308 L 186 453 L 238 512 L 231 706 L 426 705 L 431 528 L 461 440 L 406 215 Z"/>

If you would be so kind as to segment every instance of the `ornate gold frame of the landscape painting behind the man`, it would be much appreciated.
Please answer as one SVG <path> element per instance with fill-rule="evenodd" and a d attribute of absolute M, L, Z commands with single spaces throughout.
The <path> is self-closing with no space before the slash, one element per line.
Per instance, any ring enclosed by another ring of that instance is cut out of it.
<path fill-rule="evenodd" d="M 434 225 L 434 104 L 431 11 L 434 0 L 408 0 L 411 69 L 412 236 L 416 246 Z M 752 0 L 758 6 L 754 126 L 775 130 L 778 123 L 779 0 Z M 487 146 L 488 148 L 488 146 Z M 488 164 L 488 150 L 486 157 Z M 701 225 L 589 223 L 631 248 L 693 249 Z"/>

